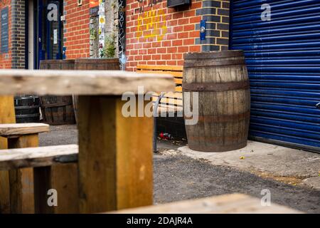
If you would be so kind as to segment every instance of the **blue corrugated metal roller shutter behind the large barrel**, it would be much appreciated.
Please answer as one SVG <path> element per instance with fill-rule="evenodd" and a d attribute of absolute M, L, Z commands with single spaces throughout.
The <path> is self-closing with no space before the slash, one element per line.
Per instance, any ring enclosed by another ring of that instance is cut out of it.
<path fill-rule="evenodd" d="M 320 0 L 236 0 L 230 16 L 230 48 L 245 51 L 250 77 L 250 137 L 320 151 Z"/>

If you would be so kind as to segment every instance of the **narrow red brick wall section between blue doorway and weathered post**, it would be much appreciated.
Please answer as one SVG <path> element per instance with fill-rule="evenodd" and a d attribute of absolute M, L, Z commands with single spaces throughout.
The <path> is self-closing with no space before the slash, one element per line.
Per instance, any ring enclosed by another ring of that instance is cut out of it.
<path fill-rule="evenodd" d="M 88 58 L 90 54 L 89 1 L 78 6 L 75 0 L 65 0 L 63 41 L 67 58 Z"/>

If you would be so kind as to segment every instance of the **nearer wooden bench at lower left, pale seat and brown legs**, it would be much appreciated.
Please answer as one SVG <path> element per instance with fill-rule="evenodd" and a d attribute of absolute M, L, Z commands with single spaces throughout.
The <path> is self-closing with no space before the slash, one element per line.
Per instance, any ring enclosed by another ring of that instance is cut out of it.
<path fill-rule="evenodd" d="M 11 213 L 78 213 L 78 151 L 78 145 L 0 150 L 1 171 L 28 170 L 33 176 L 14 186 L 10 182 Z M 58 193 L 57 207 L 48 205 L 52 189 Z"/>

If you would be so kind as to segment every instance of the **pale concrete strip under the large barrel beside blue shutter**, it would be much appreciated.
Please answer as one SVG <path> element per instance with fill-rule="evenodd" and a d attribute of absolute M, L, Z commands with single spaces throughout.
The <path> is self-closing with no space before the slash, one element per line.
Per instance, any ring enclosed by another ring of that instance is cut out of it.
<path fill-rule="evenodd" d="M 309 185 L 320 190 L 320 154 L 263 142 L 248 141 L 247 147 L 229 152 L 198 152 L 188 146 L 178 148 L 182 155 L 206 160 L 212 165 L 235 167 L 261 177 L 291 185 Z"/>

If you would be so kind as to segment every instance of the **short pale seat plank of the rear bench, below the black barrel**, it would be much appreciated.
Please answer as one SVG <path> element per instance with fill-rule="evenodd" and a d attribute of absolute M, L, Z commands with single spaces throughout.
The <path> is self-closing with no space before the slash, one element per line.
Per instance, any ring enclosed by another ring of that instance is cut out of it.
<path fill-rule="evenodd" d="M 0 135 L 30 135 L 49 131 L 50 126 L 44 123 L 0 124 Z"/>

